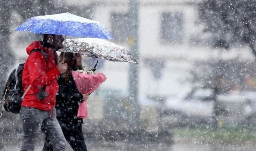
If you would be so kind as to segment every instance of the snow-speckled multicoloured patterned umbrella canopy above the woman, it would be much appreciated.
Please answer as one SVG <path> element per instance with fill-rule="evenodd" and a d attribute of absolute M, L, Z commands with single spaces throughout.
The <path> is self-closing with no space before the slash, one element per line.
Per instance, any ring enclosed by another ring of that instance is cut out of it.
<path fill-rule="evenodd" d="M 63 45 L 64 49 L 59 51 L 75 52 L 83 56 L 110 61 L 138 63 L 126 48 L 118 46 L 104 39 L 66 39 L 66 43 Z"/>

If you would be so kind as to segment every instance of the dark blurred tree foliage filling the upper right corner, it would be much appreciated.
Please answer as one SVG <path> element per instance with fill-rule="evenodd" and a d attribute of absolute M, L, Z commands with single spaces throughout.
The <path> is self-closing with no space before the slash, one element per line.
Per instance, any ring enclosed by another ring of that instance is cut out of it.
<path fill-rule="evenodd" d="M 248 44 L 256 57 L 256 0 L 203 0 L 199 21 L 204 32 L 213 35 L 214 47 L 228 49 L 233 44 Z"/>

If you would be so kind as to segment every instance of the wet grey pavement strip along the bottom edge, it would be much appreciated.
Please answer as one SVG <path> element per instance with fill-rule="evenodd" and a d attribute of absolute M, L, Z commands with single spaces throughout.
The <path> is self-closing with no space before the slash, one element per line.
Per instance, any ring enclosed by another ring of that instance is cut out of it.
<path fill-rule="evenodd" d="M 198 140 L 185 140 L 184 138 L 173 137 L 172 144 L 160 143 L 158 141 L 133 141 L 133 140 L 87 140 L 86 145 L 89 151 L 255 151 L 255 141 L 240 143 L 203 143 Z M 43 138 L 38 140 L 43 142 Z M 6 151 L 18 151 L 19 146 L 7 146 Z M 42 144 L 37 144 L 35 151 L 41 151 Z M 0 151 L 5 151 L 1 149 Z M 72 151 L 67 146 L 67 151 Z"/>

